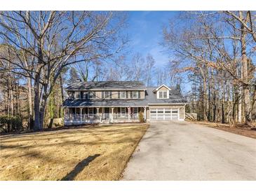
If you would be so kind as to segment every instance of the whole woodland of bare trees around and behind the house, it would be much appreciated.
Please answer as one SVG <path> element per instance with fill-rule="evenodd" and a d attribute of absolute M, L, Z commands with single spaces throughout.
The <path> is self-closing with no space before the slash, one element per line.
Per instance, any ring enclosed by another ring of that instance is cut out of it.
<path fill-rule="evenodd" d="M 29 130 L 62 118 L 64 87 L 82 81 L 191 84 L 187 112 L 198 120 L 246 123 L 256 118 L 256 15 L 253 11 L 182 12 L 163 27 L 170 63 L 129 55 L 127 13 L 0 12 L 0 127 Z"/>

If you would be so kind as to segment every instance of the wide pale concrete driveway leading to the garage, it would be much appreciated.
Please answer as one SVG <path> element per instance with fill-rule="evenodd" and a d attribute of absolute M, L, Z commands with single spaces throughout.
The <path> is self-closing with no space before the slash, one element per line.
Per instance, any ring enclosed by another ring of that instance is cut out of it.
<path fill-rule="evenodd" d="M 256 139 L 185 121 L 155 121 L 123 180 L 256 180 Z"/>

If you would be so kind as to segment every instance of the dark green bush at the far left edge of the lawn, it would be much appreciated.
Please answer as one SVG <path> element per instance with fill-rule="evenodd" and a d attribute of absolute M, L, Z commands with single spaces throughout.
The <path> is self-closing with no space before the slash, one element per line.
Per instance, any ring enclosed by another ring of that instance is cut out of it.
<path fill-rule="evenodd" d="M 20 116 L 0 116 L 0 130 L 4 132 L 15 132 L 22 129 L 22 118 Z"/>

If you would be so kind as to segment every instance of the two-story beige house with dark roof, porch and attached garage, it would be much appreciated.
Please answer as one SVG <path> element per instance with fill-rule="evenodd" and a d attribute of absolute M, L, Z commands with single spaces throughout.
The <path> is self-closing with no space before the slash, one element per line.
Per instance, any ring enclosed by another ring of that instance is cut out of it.
<path fill-rule="evenodd" d="M 166 85 L 141 81 L 77 82 L 66 88 L 65 125 L 104 122 L 184 120 L 186 100 Z"/>

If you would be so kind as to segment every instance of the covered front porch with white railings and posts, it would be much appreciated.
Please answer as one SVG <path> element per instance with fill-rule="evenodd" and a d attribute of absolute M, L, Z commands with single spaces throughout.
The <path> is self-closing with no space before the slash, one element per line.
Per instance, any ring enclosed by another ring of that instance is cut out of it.
<path fill-rule="evenodd" d="M 146 107 L 65 107 L 65 125 L 85 123 L 122 123 L 140 121 L 139 113 L 146 121 Z"/>

